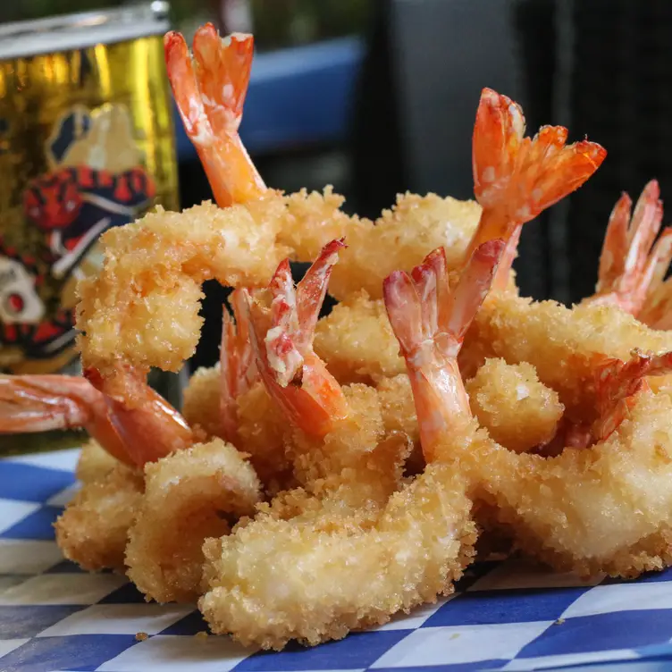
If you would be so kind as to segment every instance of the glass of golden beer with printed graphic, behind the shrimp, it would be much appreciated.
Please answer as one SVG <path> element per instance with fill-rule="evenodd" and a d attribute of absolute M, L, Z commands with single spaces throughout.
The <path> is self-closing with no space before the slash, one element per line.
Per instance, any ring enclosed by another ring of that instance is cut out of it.
<path fill-rule="evenodd" d="M 0 372 L 79 373 L 98 238 L 178 206 L 164 2 L 0 25 Z M 0 435 L 0 455 L 72 436 Z"/>

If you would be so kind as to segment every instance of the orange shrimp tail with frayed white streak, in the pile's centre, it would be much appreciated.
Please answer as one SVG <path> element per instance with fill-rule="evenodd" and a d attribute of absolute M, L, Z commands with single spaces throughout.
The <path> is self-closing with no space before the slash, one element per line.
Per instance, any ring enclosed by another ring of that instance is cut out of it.
<path fill-rule="evenodd" d="M 268 290 L 254 298 L 245 292 L 248 330 L 266 390 L 293 424 L 315 438 L 331 432 L 349 411 L 339 383 L 313 351 L 315 324 L 343 247 L 342 240 L 325 245 L 296 287 L 285 260 Z M 270 306 L 264 306 L 268 298 Z"/>

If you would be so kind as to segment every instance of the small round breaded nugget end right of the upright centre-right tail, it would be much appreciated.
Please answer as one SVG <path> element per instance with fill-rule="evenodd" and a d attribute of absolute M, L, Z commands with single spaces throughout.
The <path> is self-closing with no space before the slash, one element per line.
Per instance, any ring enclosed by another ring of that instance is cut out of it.
<path fill-rule="evenodd" d="M 491 437 L 515 452 L 548 443 L 558 432 L 565 407 L 558 392 L 539 382 L 526 362 L 487 359 L 466 382 L 469 405 Z"/>

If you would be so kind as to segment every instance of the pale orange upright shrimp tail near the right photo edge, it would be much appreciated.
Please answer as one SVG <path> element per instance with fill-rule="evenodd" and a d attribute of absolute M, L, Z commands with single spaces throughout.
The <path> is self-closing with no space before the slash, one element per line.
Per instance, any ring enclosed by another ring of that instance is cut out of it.
<path fill-rule="evenodd" d="M 595 294 L 586 303 L 610 304 L 639 315 L 672 261 L 672 229 L 658 242 L 663 208 L 658 182 L 644 187 L 630 217 L 632 201 L 623 194 L 609 216 Z"/>

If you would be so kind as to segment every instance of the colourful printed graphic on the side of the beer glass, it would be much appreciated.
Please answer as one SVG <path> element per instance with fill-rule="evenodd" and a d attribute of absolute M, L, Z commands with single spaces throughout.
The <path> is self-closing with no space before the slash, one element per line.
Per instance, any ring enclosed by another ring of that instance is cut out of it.
<path fill-rule="evenodd" d="M 75 287 L 100 266 L 97 239 L 135 220 L 155 197 L 123 105 L 71 108 L 45 150 L 49 170 L 22 194 L 31 254 L 0 239 L 0 366 L 13 371 L 27 360 L 67 362 Z"/>

